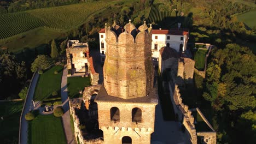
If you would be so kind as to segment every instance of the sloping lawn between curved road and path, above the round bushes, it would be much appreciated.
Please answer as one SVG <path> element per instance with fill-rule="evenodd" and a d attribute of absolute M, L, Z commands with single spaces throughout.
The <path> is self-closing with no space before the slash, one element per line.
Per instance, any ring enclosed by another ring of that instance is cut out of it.
<path fill-rule="evenodd" d="M 36 90 L 34 92 L 34 100 L 45 100 L 47 98 L 53 98 L 51 95 L 54 91 L 58 92 L 57 97 L 61 97 L 61 77 L 62 77 L 62 65 L 55 65 L 53 68 L 46 70 L 39 76 Z M 54 74 L 54 71 L 59 71 L 58 74 Z"/>

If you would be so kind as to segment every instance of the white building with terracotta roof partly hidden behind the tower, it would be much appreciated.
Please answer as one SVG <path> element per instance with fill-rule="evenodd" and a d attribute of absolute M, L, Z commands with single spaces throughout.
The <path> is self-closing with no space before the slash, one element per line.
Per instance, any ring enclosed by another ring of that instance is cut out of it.
<path fill-rule="evenodd" d="M 106 34 L 105 28 L 102 28 L 100 32 L 100 52 L 101 62 L 104 62 L 106 51 Z M 152 57 L 159 58 L 159 50 L 161 47 L 168 46 L 177 52 L 182 52 L 187 49 L 187 43 L 189 39 L 189 32 L 187 29 L 153 29 L 152 30 Z"/>

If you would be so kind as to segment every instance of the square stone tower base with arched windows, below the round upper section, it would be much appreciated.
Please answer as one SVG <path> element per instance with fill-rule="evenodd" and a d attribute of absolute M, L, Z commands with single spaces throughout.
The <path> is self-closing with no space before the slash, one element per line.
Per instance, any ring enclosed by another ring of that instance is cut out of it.
<path fill-rule="evenodd" d="M 104 143 L 121 143 L 123 136 L 130 136 L 132 143 L 150 143 L 150 136 L 154 132 L 155 105 L 139 103 L 118 103 L 98 101 L 98 122 L 103 130 Z M 120 121 L 110 120 L 110 109 L 118 107 Z M 132 122 L 132 109 L 142 110 L 142 122 Z"/>

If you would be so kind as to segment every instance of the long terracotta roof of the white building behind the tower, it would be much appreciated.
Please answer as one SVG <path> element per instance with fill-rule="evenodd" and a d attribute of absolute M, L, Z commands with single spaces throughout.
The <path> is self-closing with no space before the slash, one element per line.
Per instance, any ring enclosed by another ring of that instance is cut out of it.
<path fill-rule="evenodd" d="M 105 28 L 102 28 L 98 33 L 105 33 Z M 188 29 L 152 29 L 152 34 L 188 35 Z"/>

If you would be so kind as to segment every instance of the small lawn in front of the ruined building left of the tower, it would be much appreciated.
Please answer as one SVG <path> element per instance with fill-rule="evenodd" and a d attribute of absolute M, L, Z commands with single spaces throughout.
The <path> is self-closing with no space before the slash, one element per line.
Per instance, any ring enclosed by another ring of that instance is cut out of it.
<path fill-rule="evenodd" d="M 83 95 L 79 94 L 80 90 L 84 90 L 84 87 L 91 86 L 90 77 L 68 77 L 67 78 L 67 88 L 68 88 L 68 97 L 69 98 L 78 98 Z"/>

